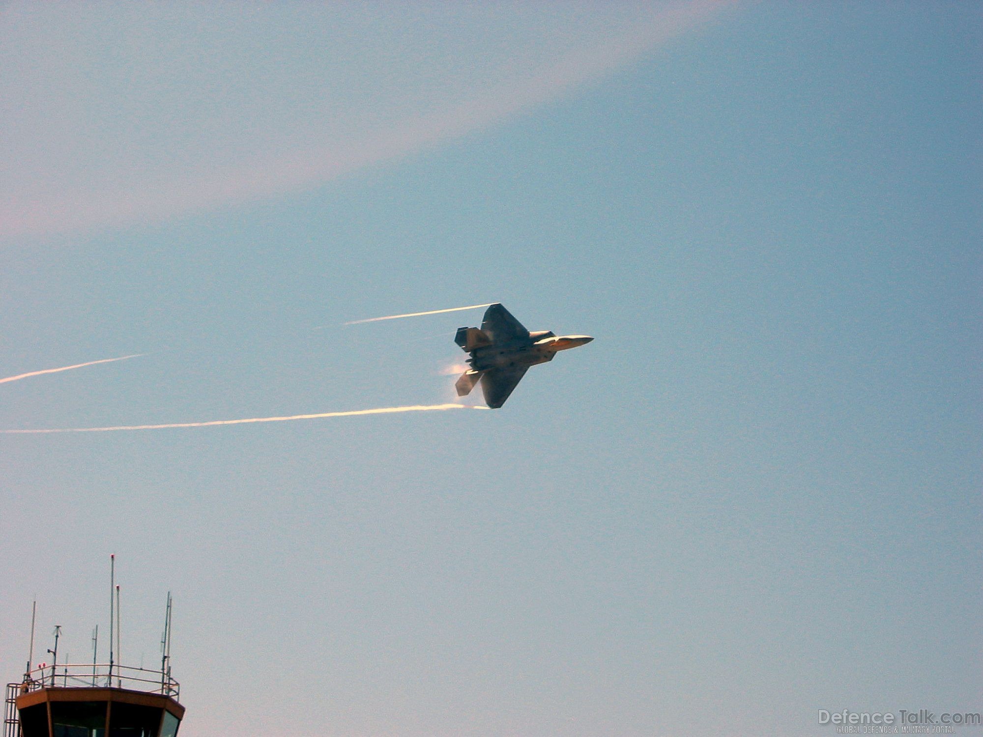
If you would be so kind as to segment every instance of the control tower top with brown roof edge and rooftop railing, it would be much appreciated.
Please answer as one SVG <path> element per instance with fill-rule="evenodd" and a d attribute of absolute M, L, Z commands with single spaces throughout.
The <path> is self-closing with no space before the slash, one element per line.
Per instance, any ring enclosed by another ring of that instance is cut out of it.
<path fill-rule="evenodd" d="M 7 684 L 4 737 L 176 737 L 185 709 L 169 670 L 34 668 Z"/>

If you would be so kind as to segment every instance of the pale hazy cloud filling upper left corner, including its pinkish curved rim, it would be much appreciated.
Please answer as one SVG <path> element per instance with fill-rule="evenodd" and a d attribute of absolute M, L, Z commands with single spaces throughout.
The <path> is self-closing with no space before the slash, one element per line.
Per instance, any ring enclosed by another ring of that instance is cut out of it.
<path fill-rule="evenodd" d="M 316 187 L 597 80 L 720 5 L 10 4 L 0 237 Z"/>

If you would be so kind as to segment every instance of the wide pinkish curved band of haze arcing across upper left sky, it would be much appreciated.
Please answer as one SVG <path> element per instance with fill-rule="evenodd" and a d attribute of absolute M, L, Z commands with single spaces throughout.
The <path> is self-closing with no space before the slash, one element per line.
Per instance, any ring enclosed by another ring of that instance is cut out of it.
<path fill-rule="evenodd" d="M 731 0 L 692 0 L 654 9 L 636 27 L 568 53 L 557 63 L 513 74 L 471 98 L 448 101 L 387 128 L 242 168 L 202 163 L 196 171 L 158 173 L 123 189 L 52 193 L 43 201 L 0 199 L 0 237 L 160 221 L 174 215 L 311 189 L 367 166 L 398 160 L 459 139 L 596 82 L 673 36 L 710 20 Z"/>

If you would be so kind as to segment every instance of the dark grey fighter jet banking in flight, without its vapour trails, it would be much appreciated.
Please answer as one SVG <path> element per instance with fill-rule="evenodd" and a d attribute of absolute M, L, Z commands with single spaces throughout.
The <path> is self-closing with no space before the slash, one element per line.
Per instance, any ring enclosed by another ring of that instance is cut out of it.
<path fill-rule="evenodd" d="M 479 379 L 485 402 L 492 409 L 505 404 L 526 369 L 552 361 L 557 351 L 590 343 L 589 335 L 562 335 L 549 330 L 529 332 L 501 305 L 485 311 L 481 328 L 459 327 L 454 342 L 471 354 L 468 366 L 454 386 L 457 396 L 471 393 Z"/>

